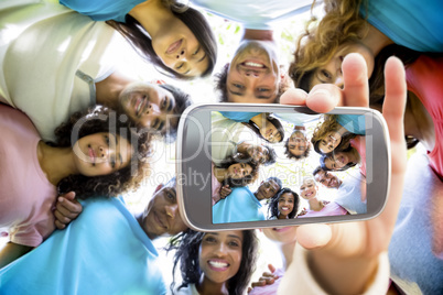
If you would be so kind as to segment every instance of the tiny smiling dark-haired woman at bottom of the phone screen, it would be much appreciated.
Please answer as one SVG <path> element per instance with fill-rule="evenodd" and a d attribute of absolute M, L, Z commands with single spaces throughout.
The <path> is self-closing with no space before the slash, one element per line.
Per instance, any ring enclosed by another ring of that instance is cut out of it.
<path fill-rule="evenodd" d="M 268 207 L 268 219 L 289 219 L 295 218 L 299 211 L 299 195 L 291 188 L 282 188 L 271 198 Z"/>

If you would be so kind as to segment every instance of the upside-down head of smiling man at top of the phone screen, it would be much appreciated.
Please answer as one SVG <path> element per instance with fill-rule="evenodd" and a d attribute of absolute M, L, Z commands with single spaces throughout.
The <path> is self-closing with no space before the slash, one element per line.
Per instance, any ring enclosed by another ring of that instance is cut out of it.
<path fill-rule="evenodd" d="M 311 142 L 307 140 L 305 127 L 295 125 L 284 143 L 284 154 L 288 159 L 301 160 L 307 157 L 310 152 Z"/>

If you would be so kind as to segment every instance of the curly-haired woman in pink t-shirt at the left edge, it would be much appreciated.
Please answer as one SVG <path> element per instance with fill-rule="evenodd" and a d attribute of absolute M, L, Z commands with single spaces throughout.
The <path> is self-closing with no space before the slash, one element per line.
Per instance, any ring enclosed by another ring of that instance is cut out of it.
<path fill-rule="evenodd" d="M 0 226 L 10 232 L 0 254 L 8 263 L 55 230 L 58 194 L 117 196 L 139 187 L 149 167 L 148 134 L 114 120 L 107 108 L 74 113 L 54 131 L 55 143 L 41 140 L 23 112 L 0 105 L 0 113 L 1 153 L 8 155 L 1 162 Z"/>

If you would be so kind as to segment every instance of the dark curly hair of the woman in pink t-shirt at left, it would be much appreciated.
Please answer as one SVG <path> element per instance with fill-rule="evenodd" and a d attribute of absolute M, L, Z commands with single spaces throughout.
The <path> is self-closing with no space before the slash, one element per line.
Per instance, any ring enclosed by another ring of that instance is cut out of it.
<path fill-rule="evenodd" d="M 58 194 L 75 192 L 79 198 L 91 196 L 117 196 L 137 189 L 142 179 L 149 176 L 148 157 L 151 153 L 150 138 L 147 133 L 137 133 L 127 120 L 119 120 L 120 114 L 105 107 L 75 112 L 69 120 L 54 131 L 57 148 L 74 146 L 84 136 L 109 132 L 128 140 L 134 150 L 130 164 L 108 175 L 85 176 L 69 175 L 57 184 Z M 122 117 L 121 117 L 122 118 Z M 125 117 L 126 118 L 126 117 Z"/>

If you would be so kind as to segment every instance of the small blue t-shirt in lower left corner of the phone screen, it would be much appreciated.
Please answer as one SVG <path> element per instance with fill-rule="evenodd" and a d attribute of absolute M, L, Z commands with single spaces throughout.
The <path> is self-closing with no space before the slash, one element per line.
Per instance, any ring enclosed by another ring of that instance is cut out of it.
<path fill-rule="evenodd" d="M 266 220 L 262 206 L 248 187 L 235 187 L 233 193 L 213 206 L 213 222 Z"/>

